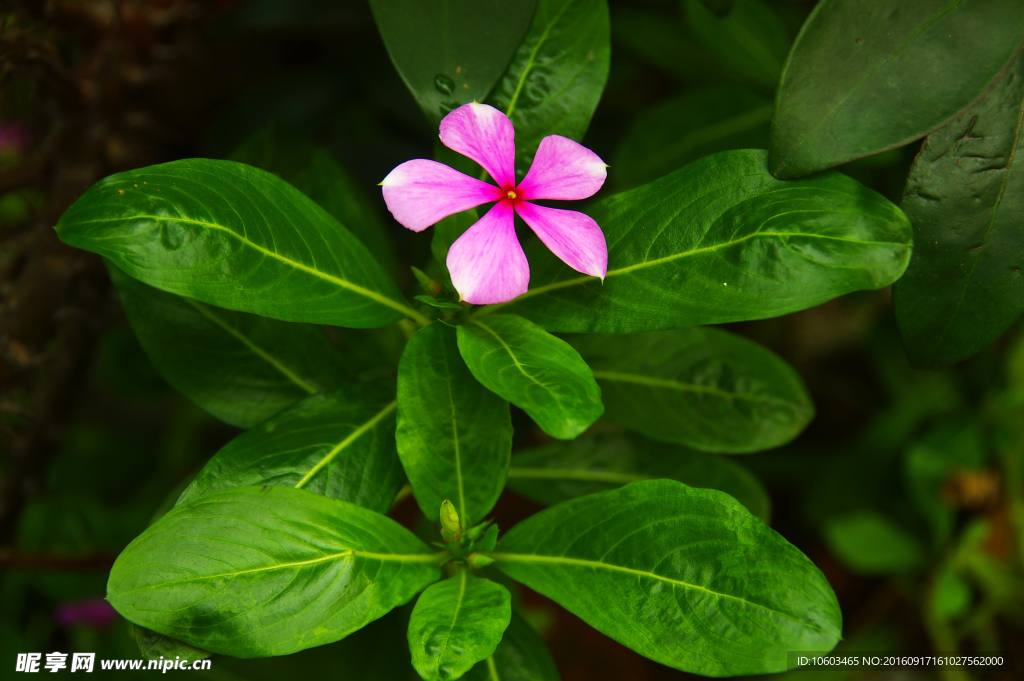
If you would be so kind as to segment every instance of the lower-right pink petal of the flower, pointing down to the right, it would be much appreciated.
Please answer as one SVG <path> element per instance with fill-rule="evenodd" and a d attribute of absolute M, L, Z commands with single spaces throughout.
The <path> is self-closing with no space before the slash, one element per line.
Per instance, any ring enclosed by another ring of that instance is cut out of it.
<path fill-rule="evenodd" d="M 515 210 L 562 262 L 578 272 L 604 279 L 608 271 L 608 246 L 594 218 L 525 201 L 517 202 Z"/>

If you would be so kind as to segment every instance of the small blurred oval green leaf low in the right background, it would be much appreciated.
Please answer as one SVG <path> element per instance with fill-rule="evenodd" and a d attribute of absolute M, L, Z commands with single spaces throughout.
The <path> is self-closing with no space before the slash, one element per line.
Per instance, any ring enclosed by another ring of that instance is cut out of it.
<path fill-rule="evenodd" d="M 825 540 L 836 557 L 855 572 L 900 574 L 924 567 L 921 543 L 878 511 L 855 511 L 825 523 Z"/>

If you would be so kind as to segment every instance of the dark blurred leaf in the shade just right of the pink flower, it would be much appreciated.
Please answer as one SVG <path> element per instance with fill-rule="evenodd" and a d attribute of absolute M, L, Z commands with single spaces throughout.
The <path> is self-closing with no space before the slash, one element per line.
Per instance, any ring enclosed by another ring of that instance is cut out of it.
<path fill-rule="evenodd" d="M 609 179 L 631 188 L 691 161 L 768 145 L 772 101 L 741 86 L 684 92 L 643 110 L 615 153 Z"/>

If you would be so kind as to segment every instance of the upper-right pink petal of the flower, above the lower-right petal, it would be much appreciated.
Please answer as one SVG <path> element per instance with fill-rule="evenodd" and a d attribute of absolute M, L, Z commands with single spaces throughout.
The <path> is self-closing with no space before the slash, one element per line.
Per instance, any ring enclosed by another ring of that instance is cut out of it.
<path fill-rule="evenodd" d="M 587 199 L 604 184 L 607 168 L 597 154 L 583 144 L 561 135 L 548 135 L 541 140 L 534 165 L 516 194 L 530 201 Z"/>

